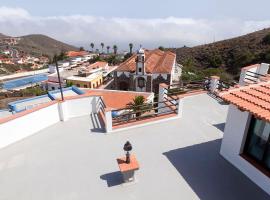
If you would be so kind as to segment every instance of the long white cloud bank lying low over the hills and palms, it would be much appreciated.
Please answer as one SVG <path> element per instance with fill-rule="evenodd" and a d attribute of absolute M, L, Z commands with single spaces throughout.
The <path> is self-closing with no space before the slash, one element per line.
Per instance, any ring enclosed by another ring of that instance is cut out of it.
<path fill-rule="evenodd" d="M 41 33 L 58 40 L 87 47 L 90 42 L 129 42 L 154 48 L 159 45 L 193 46 L 221 40 L 270 26 L 270 21 L 191 18 L 103 18 L 85 15 L 32 16 L 21 8 L 0 7 L 0 32 L 13 36 Z"/>

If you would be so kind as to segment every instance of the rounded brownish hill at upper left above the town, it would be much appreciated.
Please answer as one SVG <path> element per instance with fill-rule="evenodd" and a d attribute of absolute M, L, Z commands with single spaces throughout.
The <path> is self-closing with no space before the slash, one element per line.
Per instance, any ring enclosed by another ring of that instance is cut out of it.
<path fill-rule="evenodd" d="M 74 46 L 57 41 L 45 35 L 27 35 L 20 38 L 21 40 L 14 48 L 31 55 L 45 55 L 52 57 L 54 54 L 59 54 L 62 51 L 78 50 L 78 48 Z"/>

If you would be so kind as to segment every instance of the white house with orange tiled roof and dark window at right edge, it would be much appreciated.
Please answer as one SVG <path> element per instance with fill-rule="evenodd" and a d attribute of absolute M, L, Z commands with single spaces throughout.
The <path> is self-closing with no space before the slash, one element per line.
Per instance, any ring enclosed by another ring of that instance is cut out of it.
<path fill-rule="evenodd" d="M 270 194 L 269 64 L 242 69 L 237 88 L 219 96 L 229 109 L 220 153 Z"/>

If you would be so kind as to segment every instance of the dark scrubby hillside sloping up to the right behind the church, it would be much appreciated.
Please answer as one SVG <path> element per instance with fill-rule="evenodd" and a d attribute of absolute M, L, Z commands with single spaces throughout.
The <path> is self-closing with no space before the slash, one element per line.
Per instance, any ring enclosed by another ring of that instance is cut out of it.
<path fill-rule="evenodd" d="M 171 49 L 177 62 L 200 69 L 222 68 L 233 77 L 243 66 L 270 62 L 270 28 L 196 47 Z"/>

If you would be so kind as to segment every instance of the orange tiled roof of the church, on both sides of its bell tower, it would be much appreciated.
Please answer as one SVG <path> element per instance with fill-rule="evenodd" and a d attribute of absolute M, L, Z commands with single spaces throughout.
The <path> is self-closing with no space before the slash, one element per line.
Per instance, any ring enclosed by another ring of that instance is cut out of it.
<path fill-rule="evenodd" d="M 170 74 L 176 58 L 176 55 L 170 51 L 145 50 L 145 68 L 146 73 L 164 73 Z M 125 62 L 121 63 L 116 71 L 136 71 L 136 57 L 134 54 Z"/>

